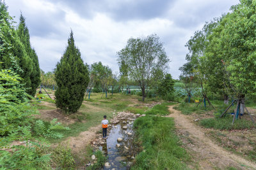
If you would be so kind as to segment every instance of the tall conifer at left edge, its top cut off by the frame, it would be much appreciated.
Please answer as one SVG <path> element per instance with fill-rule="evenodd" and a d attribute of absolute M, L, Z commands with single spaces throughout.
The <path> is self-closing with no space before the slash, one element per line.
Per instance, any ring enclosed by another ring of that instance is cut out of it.
<path fill-rule="evenodd" d="M 22 77 L 24 87 L 31 87 L 31 72 L 33 69 L 32 60 L 28 57 L 24 45 L 20 42 L 17 32 L 12 26 L 13 20 L 8 13 L 8 7 L 4 2 L 0 1 L 0 29 L 4 36 L 1 36 L 1 45 L 3 43 L 3 50 L 0 55 L 0 69 L 17 69 L 13 68 L 13 59 L 17 61 L 21 69 L 17 73 Z M 13 57 L 13 58 L 12 58 Z M 14 66 L 15 67 L 15 66 Z"/>

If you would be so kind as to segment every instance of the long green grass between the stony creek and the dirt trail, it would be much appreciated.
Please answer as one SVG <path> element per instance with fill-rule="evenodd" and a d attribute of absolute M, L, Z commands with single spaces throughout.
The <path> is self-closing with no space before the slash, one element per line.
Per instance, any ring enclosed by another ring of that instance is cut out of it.
<path fill-rule="evenodd" d="M 188 169 L 189 155 L 174 133 L 173 118 L 140 117 L 135 120 L 136 138 L 143 152 L 136 155 L 131 169 Z"/>

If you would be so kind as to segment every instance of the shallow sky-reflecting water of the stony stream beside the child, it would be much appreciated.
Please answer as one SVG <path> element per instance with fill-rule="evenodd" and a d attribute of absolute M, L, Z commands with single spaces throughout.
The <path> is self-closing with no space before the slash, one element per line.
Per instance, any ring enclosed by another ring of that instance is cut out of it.
<path fill-rule="evenodd" d="M 132 157 L 135 157 L 136 153 L 139 152 L 133 140 L 134 132 L 132 131 L 132 126 L 135 118 L 132 119 L 123 118 L 123 120 L 120 120 L 120 123 L 113 125 L 108 132 L 106 143 L 100 146 L 100 150 L 108 158 L 106 162 L 110 164 L 110 167 L 104 166 L 104 169 L 129 169 L 132 160 L 134 160 Z M 123 123 L 124 121 L 126 122 L 125 124 Z M 131 123 L 129 124 L 129 122 Z M 123 129 L 124 126 L 127 126 L 127 129 Z M 123 141 L 118 142 L 117 138 L 122 138 Z M 116 144 L 120 146 L 117 147 Z"/>

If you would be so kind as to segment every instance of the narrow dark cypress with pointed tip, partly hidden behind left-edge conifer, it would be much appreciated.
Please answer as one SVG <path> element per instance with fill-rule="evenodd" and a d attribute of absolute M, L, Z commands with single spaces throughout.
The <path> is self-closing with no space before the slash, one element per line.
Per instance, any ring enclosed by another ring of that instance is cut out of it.
<path fill-rule="evenodd" d="M 35 96 L 36 88 L 40 84 L 40 67 L 38 56 L 36 55 L 35 50 L 31 48 L 28 27 L 26 26 L 25 18 L 22 16 L 22 14 L 20 15 L 20 23 L 17 29 L 17 34 L 19 35 L 20 41 L 24 45 L 28 57 L 32 60 L 33 71 L 30 74 L 31 88 L 28 89 L 28 94 Z"/>

